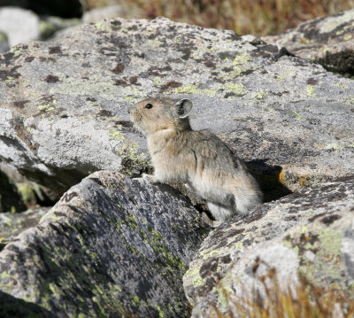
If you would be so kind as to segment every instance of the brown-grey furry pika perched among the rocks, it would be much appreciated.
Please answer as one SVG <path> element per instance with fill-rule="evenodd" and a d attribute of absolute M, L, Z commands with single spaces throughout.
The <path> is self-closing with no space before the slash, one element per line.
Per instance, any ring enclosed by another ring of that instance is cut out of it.
<path fill-rule="evenodd" d="M 241 159 L 208 130 L 190 127 L 189 99 L 148 98 L 129 107 L 130 118 L 147 138 L 154 175 L 151 182 L 188 182 L 207 201 L 216 223 L 247 213 L 262 193 Z M 216 225 L 214 223 L 214 225 Z"/>

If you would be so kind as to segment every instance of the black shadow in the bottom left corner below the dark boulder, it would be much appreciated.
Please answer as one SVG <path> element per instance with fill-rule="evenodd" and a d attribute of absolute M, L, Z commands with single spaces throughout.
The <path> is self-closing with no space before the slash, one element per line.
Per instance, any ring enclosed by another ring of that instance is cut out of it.
<path fill-rule="evenodd" d="M 2 318 L 52 318 L 55 314 L 50 313 L 42 306 L 17 299 L 3 291 L 0 291 L 0 317 Z"/>

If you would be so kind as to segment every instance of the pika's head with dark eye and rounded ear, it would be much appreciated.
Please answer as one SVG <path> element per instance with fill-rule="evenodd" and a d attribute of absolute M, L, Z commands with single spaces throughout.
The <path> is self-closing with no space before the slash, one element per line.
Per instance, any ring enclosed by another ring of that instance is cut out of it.
<path fill-rule="evenodd" d="M 189 129 L 192 109 L 189 99 L 148 98 L 130 107 L 128 112 L 135 127 L 149 135 L 163 129 Z"/>

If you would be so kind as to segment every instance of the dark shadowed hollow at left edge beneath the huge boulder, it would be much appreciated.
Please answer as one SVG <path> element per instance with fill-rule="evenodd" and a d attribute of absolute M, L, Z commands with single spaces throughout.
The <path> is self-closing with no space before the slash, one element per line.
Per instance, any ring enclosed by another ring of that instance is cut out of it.
<path fill-rule="evenodd" d="M 0 170 L 0 214 L 21 212 L 26 206 L 11 179 Z"/>

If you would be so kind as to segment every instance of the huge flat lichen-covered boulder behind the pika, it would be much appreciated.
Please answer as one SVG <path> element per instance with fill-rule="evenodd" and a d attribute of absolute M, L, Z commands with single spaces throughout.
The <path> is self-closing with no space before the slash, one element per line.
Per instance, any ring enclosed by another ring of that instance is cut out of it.
<path fill-rule="evenodd" d="M 98 169 L 148 167 L 127 107 L 157 95 L 193 100 L 192 127 L 226 141 L 265 190 L 353 174 L 354 82 L 249 35 L 113 19 L 15 47 L 0 78 L 0 159 L 58 193 Z"/>

